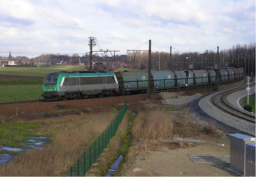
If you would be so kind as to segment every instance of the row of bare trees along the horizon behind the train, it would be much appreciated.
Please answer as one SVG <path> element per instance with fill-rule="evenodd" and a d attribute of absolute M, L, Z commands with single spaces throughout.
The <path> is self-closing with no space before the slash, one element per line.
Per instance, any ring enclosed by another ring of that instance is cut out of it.
<path fill-rule="evenodd" d="M 207 65 L 217 64 L 217 48 L 211 51 L 204 51 L 202 54 L 199 52 L 180 52 L 174 50 L 172 55 L 168 52 L 151 52 L 151 67 L 152 69 L 160 70 L 185 70 L 189 65 L 193 65 L 195 70 L 205 69 Z M 1 57 L 0 57 L 1 58 Z M 3 57 L 2 57 L 3 58 Z M 160 59 L 159 59 L 160 58 Z M 4 59 L 4 58 L 3 58 Z M 8 58 L 6 58 L 8 59 Z M 79 56 L 73 55 L 58 55 L 58 54 L 45 54 L 35 58 L 15 57 L 19 63 L 25 62 L 47 62 L 59 63 L 62 61 L 65 64 L 79 65 L 84 63 L 89 65 L 89 54 Z M 112 55 L 99 55 L 94 53 L 92 59 L 95 62 L 113 62 Z M 115 55 L 115 62 L 130 62 L 131 68 L 148 68 L 148 52 L 129 52 L 126 55 Z M 230 49 L 220 49 L 219 62 L 224 66 L 245 67 L 247 74 L 255 74 L 255 42 L 249 44 L 237 44 Z M 115 64 L 117 66 L 118 64 Z M 250 67 L 249 67 L 250 65 Z"/>

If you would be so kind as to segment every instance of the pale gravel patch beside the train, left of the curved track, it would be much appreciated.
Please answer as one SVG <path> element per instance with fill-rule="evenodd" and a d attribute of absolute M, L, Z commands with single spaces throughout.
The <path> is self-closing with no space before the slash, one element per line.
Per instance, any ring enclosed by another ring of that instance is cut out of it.
<path fill-rule="evenodd" d="M 176 96 L 177 98 L 171 98 L 171 92 L 166 92 L 166 93 L 169 93 L 170 95 L 168 94 L 161 94 L 162 97 L 165 98 L 165 100 L 161 100 L 163 104 L 171 104 L 171 105 L 182 105 L 182 104 L 187 104 L 189 103 L 190 101 L 192 100 L 195 100 L 199 97 L 201 97 L 201 94 L 199 93 L 196 93 L 194 95 L 191 95 L 191 96 Z"/>

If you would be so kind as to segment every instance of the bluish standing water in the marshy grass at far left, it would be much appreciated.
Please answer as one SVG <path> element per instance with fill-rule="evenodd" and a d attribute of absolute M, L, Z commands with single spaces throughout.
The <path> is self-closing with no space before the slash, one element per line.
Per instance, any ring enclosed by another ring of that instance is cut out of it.
<path fill-rule="evenodd" d="M 34 148 L 39 148 L 41 149 L 42 145 L 44 144 L 49 144 L 48 138 L 46 136 L 41 136 L 41 137 L 32 137 L 29 136 L 28 140 L 24 140 L 22 144 L 26 146 L 26 148 L 21 148 L 21 147 L 9 147 L 9 146 L 1 146 L 1 150 L 5 150 L 7 152 L 24 152 L 26 150 L 34 149 Z M 0 154 L 0 165 L 3 165 L 5 162 L 9 162 L 12 159 L 14 159 L 15 155 L 10 155 L 8 153 L 5 154 Z"/>

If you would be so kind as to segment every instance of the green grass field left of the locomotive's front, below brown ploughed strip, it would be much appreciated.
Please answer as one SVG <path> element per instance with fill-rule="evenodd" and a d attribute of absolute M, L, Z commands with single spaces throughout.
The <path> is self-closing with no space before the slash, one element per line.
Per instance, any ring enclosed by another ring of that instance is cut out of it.
<path fill-rule="evenodd" d="M 40 85 L 0 85 L 0 103 L 39 100 L 42 94 Z M 40 98 L 42 99 L 42 97 Z"/>

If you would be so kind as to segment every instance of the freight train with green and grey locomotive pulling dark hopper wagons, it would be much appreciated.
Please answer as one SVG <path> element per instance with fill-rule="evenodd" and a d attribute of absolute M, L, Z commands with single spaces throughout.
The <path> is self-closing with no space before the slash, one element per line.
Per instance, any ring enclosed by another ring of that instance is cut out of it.
<path fill-rule="evenodd" d="M 219 84 L 232 83 L 244 78 L 243 68 L 221 67 Z M 214 86 L 216 70 L 190 70 L 186 79 L 183 71 L 151 71 L 150 92 L 173 91 L 185 88 Z M 188 86 L 186 86 L 186 80 Z M 148 72 L 61 71 L 45 76 L 42 97 L 46 101 L 145 93 Z"/>

